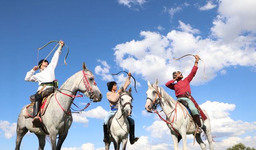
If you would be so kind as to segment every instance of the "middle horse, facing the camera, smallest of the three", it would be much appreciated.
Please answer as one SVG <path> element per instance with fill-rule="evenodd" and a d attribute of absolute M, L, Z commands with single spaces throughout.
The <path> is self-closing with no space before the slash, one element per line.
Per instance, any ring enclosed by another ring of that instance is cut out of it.
<path fill-rule="evenodd" d="M 132 114 L 132 88 L 128 91 L 121 89 L 122 94 L 119 97 L 118 110 L 112 119 L 110 126 L 110 142 L 105 142 L 105 149 L 109 150 L 110 143 L 114 143 L 115 150 L 120 149 L 120 143 L 122 142 L 122 150 L 126 149 L 126 144 L 129 134 L 128 116 Z"/>

